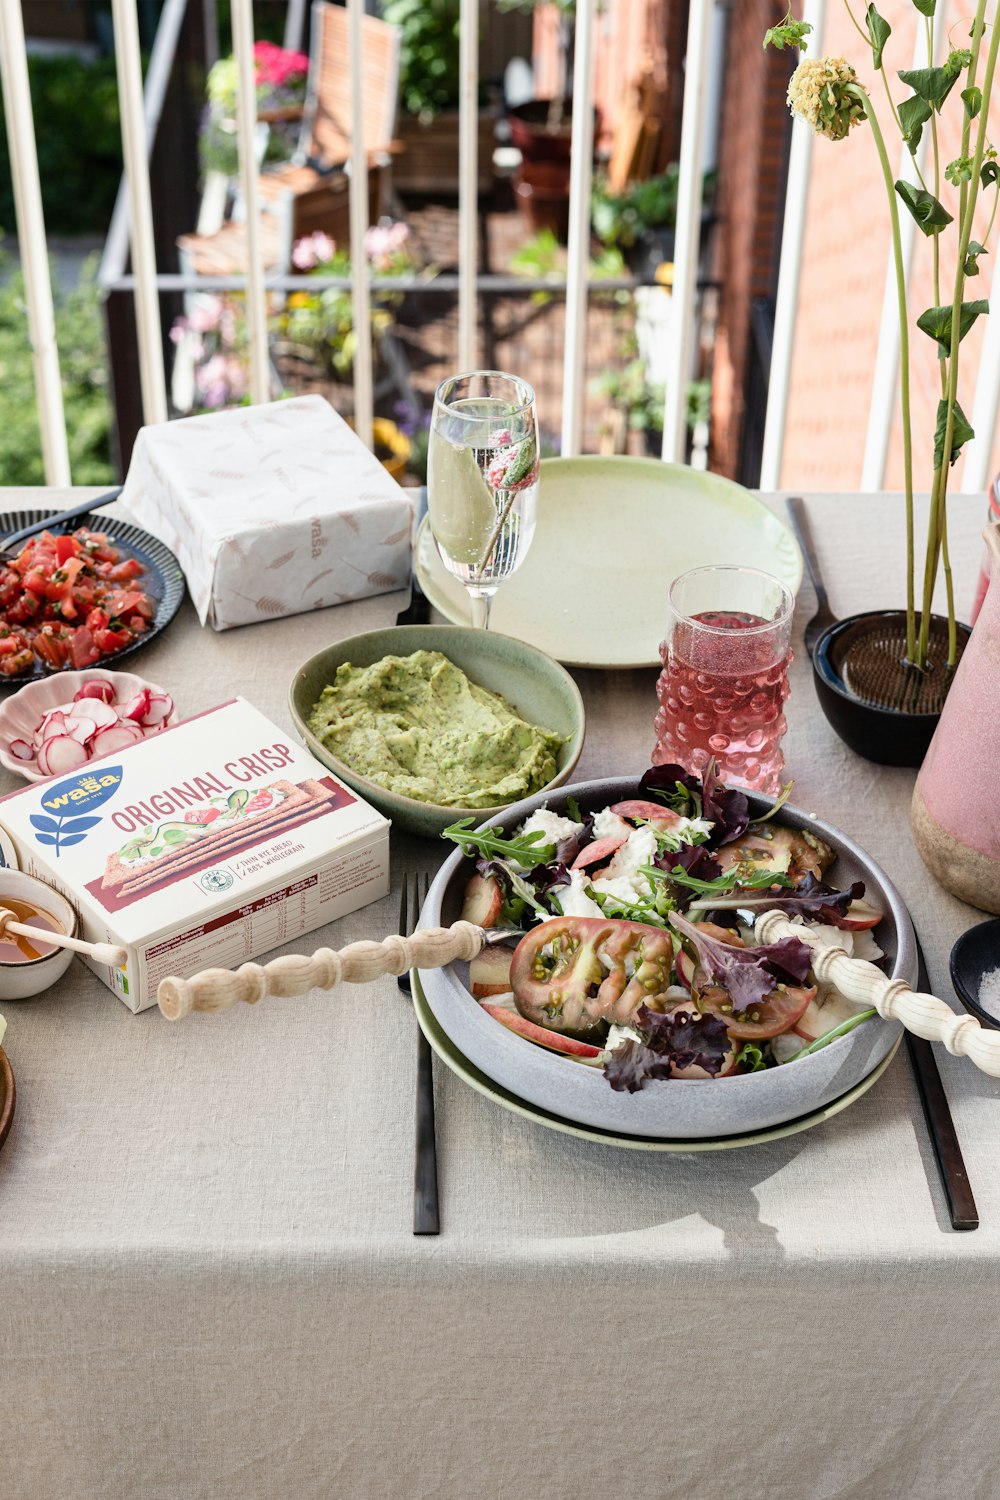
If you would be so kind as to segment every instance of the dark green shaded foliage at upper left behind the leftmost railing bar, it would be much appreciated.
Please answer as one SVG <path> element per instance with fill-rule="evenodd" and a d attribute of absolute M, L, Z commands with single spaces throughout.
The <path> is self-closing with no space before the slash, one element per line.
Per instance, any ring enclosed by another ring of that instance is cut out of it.
<path fill-rule="evenodd" d="M 28 57 L 42 208 L 49 234 L 103 234 L 121 177 L 114 60 Z M 0 116 L 0 228 L 13 230 L 13 188 Z"/>

